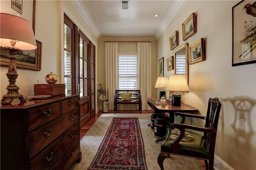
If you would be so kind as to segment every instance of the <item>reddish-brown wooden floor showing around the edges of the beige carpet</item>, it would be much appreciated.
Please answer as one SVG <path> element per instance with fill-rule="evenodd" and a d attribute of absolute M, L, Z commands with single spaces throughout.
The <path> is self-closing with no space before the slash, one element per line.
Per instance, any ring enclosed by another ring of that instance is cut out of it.
<path fill-rule="evenodd" d="M 109 111 L 108 113 L 113 113 L 114 111 Z M 117 111 L 116 114 L 118 113 L 124 113 L 124 111 Z M 126 111 L 126 113 L 140 113 L 139 111 Z M 143 113 L 152 113 L 152 111 L 142 111 Z M 96 115 L 94 115 L 94 117 L 92 117 L 84 126 L 82 126 L 80 128 L 80 140 L 82 139 L 82 137 L 86 134 L 86 132 L 88 132 L 88 130 L 92 127 L 92 125 L 97 121 L 97 119 L 100 117 L 100 115 L 104 114 L 102 111 L 99 111 Z M 204 167 L 204 160 L 200 160 L 198 159 L 198 162 Z"/>

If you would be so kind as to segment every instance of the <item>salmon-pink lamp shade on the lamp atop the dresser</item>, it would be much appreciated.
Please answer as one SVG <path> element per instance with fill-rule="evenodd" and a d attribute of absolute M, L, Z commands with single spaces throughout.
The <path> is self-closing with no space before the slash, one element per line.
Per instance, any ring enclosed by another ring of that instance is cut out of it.
<path fill-rule="evenodd" d="M 16 40 L 15 47 L 20 49 L 36 49 L 33 28 L 27 20 L 18 16 L 1 13 L 0 45 L 11 46 L 10 40 Z"/>

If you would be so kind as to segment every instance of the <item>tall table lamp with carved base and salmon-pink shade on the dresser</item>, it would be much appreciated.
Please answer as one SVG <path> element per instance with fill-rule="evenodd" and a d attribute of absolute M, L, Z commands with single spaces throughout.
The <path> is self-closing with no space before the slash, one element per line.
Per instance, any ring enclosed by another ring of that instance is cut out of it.
<path fill-rule="evenodd" d="M 9 85 L 6 87 L 7 93 L 3 95 L 2 104 L 11 104 L 14 99 L 26 102 L 15 85 L 18 73 L 16 71 L 16 53 L 22 53 L 22 49 L 36 49 L 36 40 L 31 24 L 18 16 L 0 13 L 0 46 L 9 51 L 9 67 L 6 73 Z"/>

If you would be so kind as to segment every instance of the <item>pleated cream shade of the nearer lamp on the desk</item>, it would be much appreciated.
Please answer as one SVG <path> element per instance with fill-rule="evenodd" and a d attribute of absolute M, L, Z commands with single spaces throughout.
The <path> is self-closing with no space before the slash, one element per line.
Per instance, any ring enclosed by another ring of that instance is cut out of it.
<path fill-rule="evenodd" d="M 189 91 L 188 82 L 185 75 L 181 75 L 181 74 L 170 75 L 169 81 L 166 85 L 166 90 L 174 91 L 174 92 Z"/>

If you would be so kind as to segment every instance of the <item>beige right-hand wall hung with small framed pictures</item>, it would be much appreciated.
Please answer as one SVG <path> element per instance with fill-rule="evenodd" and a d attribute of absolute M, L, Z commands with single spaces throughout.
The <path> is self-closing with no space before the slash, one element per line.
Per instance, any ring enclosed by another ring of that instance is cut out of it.
<path fill-rule="evenodd" d="M 208 99 L 218 97 L 222 109 L 215 159 L 226 164 L 226 168 L 253 170 L 256 169 L 256 64 L 232 67 L 232 6 L 238 2 L 185 1 L 157 41 L 156 62 L 161 57 L 166 61 L 184 43 L 190 45 L 200 38 L 206 39 L 206 61 L 189 65 L 190 91 L 182 94 L 182 101 L 206 115 Z M 182 23 L 193 12 L 197 15 L 197 33 L 183 41 Z M 179 45 L 170 50 L 169 37 L 176 30 L 179 32 Z M 164 75 L 169 77 L 170 74 L 174 71 L 167 71 L 164 66 Z M 233 97 L 250 99 L 254 103 L 244 116 L 244 122 L 230 101 L 225 100 Z M 220 163 L 218 169 L 223 168 Z"/>

